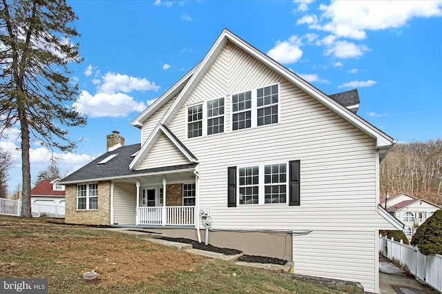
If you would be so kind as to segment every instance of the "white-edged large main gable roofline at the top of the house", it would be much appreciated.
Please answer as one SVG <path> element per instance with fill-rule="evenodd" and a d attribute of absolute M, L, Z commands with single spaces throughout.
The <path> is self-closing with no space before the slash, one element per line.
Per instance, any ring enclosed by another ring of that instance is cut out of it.
<path fill-rule="evenodd" d="M 169 110 L 167 110 L 166 114 L 160 120 L 161 125 L 168 126 L 171 123 L 173 117 L 175 117 L 177 111 L 180 110 L 181 106 L 186 101 L 186 98 L 189 97 L 195 86 L 198 85 L 200 79 L 206 74 L 206 71 L 209 70 L 211 64 L 219 55 L 222 48 L 227 44 L 227 42 L 235 44 L 236 46 L 247 52 L 249 55 L 255 57 L 266 66 L 277 72 L 279 75 L 291 81 L 291 83 L 296 85 L 298 88 L 307 92 L 311 97 L 319 101 L 321 104 L 336 112 L 336 114 L 340 115 L 340 117 L 343 117 L 343 119 L 349 121 L 350 124 L 362 130 L 364 133 L 369 135 L 369 137 L 375 139 L 376 148 L 378 148 L 380 153 L 380 159 L 383 159 L 390 148 L 392 148 L 392 146 L 394 146 L 394 144 L 396 143 L 396 141 L 392 137 L 383 133 L 372 124 L 369 124 L 368 121 L 365 121 L 365 119 L 362 119 L 351 110 L 348 110 L 338 101 L 330 98 L 328 95 L 318 90 L 304 79 L 298 77 L 298 75 L 294 74 L 294 72 L 291 72 L 291 70 L 280 65 L 280 63 L 274 61 L 263 52 L 260 52 L 249 43 L 247 43 L 243 39 L 240 39 L 240 37 L 234 35 L 227 29 L 224 29 L 222 31 L 220 37 L 218 37 L 218 39 L 215 41 L 208 54 L 200 63 L 198 63 L 197 66 L 195 66 L 195 68 L 188 72 L 187 75 L 185 75 L 182 79 L 180 79 L 180 81 L 177 82 L 177 84 L 175 84 L 171 89 L 164 93 L 162 97 L 155 101 L 157 104 L 154 105 L 151 110 L 145 110 L 143 114 L 137 117 L 131 124 L 140 128 L 144 121 L 146 121 L 146 119 L 148 119 L 148 117 L 150 117 L 155 112 L 155 109 L 159 108 L 161 105 L 166 104 L 166 101 L 169 101 L 172 97 L 175 97 L 175 95 L 179 93 L 177 99 L 175 99 Z M 152 106 L 150 106 L 149 108 L 151 107 Z"/>

